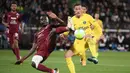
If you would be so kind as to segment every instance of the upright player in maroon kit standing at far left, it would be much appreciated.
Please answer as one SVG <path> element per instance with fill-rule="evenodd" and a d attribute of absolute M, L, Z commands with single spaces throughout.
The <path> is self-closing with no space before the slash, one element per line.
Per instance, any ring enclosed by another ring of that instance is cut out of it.
<path fill-rule="evenodd" d="M 8 34 L 9 43 L 17 60 L 19 60 L 20 53 L 19 53 L 19 45 L 18 45 L 18 39 L 19 39 L 18 30 L 19 27 L 21 27 L 23 31 L 23 28 L 21 25 L 21 15 L 17 12 L 16 9 L 17 9 L 16 2 L 12 2 L 11 11 L 3 16 L 2 23 L 9 29 L 9 34 Z"/>

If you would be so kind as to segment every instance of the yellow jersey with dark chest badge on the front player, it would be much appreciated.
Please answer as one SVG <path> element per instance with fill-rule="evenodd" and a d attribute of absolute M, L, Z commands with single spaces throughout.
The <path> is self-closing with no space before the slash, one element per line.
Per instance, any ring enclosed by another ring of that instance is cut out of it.
<path fill-rule="evenodd" d="M 93 36 L 102 35 L 102 28 L 99 28 L 100 26 L 95 21 L 95 19 L 89 15 L 89 14 L 83 14 L 80 18 L 77 18 L 76 16 L 72 17 L 72 22 L 74 29 L 84 29 L 86 34 L 92 34 Z M 93 30 L 90 28 L 90 26 L 93 25 L 94 29 L 98 31 L 98 33 L 93 32 Z"/>

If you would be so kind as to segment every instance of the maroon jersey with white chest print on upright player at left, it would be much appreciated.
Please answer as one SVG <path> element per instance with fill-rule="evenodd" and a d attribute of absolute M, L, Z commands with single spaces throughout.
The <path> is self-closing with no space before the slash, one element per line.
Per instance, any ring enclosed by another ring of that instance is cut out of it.
<path fill-rule="evenodd" d="M 9 24 L 9 33 L 16 33 L 19 30 L 21 22 L 21 15 L 19 13 L 9 12 L 4 16 L 4 22 Z"/>

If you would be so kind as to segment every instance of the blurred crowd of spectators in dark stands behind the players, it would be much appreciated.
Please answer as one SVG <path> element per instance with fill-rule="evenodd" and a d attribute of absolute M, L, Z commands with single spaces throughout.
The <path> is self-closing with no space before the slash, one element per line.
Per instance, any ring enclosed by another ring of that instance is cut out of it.
<path fill-rule="evenodd" d="M 0 0 L 0 31 L 4 30 L 2 26 L 2 16 L 10 11 L 10 4 L 12 0 Z M 73 3 L 71 0 L 16 0 L 18 4 L 18 12 L 22 14 L 22 20 L 25 28 L 41 27 L 49 23 L 46 15 L 46 9 L 50 9 L 58 15 L 61 19 L 67 22 L 68 16 L 73 15 Z M 103 21 L 104 29 L 130 29 L 130 0 L 75 0 L 80 1 L 88 6 L 87 13 L 94 16 L 95 13 L 100 14 L 100 19 Z M 45 5 L 45 4 L 48 5 Z M 23 37 L 28 38 L 26 41 L 32 42 L 34 29 L 25 29 L 27 33 Z M 128 33 L 113 33 L 104 32 L 105 38 L 100 41 L 100 48 L 112 50 L 128 50 L 130 46 L 130 32 Z M 27 36 L 29 35 L 29 36 Z M 0 45 L 3 42 L 1 39 L 6 37 L 0 35 Z M 68 36 L 71 41 L 64 41 L 62 43 L 71 44 L 72 36 Z M 129 40 L 129 41 L 128 41 Z M 26 45 L 26 41 L 21 41 Z M 60 39 L 58 39 L 58 42 Z M 30 43 L 27 42 L 27 43 Z M 7 43 L 7 42 L 4 42 Z M 6 44 L 7 45 L 7 44 Z M 6 46 L 5 45 L 5 46 Z"/>

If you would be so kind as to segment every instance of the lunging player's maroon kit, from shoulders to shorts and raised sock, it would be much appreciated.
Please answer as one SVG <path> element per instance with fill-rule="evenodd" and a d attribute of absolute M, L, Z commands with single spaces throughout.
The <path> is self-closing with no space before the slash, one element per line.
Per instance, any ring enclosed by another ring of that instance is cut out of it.
<path fill-rule="evenodd" d="M 47 25 L 36 33 L 37 55 L 47 58 L 55 49 L 57 34 L 67 31 L 65 27 Z"/>

